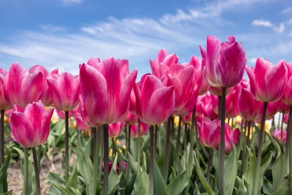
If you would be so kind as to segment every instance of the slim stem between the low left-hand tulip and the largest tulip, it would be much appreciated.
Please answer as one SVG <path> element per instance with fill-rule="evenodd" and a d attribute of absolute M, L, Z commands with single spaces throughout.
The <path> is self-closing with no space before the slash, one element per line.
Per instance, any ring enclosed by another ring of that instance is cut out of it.
<path fill-rule="evenodd" d="M 69 111 L 65 111 L 65 181 L 69 179 Z"/>

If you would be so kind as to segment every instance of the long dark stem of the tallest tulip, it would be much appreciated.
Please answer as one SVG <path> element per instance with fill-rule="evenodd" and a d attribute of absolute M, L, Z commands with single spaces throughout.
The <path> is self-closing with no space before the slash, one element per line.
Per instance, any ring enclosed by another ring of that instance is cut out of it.
<path fill-rule="evenodd" d="M 224 195 L 224 161 L 225 161 L 225 103 L 226 87 L 222 87 L 221 100 L 221 141 L 220 141 L 220 195 Z"/>

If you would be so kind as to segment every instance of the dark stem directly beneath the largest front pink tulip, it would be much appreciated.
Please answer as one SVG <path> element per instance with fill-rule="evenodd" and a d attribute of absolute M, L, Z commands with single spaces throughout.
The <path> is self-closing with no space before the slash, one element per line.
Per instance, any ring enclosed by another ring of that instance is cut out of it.
<path fill-rule="evenodd" d="M 104 195 L 109 187 L 109 124 L 104 124 Z"/>

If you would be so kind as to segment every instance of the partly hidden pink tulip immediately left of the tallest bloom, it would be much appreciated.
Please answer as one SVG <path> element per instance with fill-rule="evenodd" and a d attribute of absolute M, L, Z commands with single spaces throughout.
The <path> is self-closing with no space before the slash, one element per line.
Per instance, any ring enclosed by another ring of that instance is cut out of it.
<path fill-rule="evenodd" d="M 198 85 L 198 95 L 204 95 L 209 90 L 209 85 L 202 77 L 202 60 L 200 57 L 192 56 L 187 66 L 194 66 L 194 80 L 195 84 Z"/>

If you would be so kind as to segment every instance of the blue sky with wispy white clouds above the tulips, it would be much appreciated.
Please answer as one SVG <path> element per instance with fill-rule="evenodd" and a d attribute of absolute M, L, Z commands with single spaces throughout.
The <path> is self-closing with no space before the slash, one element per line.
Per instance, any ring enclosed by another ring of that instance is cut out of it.
<path fill-rule="evenodd" d="M 289 0 L 0 0 L 0 67 L 78 74 L 90 57 L 128 59 L 139 76 L 165 48 L 188 62 L 207 35 L 235 35 L 256 58 L 292 62 Z"/>

